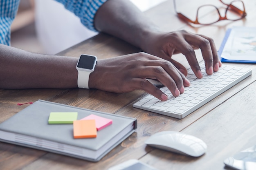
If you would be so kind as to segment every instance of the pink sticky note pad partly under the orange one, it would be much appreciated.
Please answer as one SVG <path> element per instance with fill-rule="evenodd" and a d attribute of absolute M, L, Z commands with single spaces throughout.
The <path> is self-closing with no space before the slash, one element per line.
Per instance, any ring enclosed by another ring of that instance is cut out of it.
<path fill-rule="evenodd" d="M 87 117 L 84 117 L 81 120 L 88 120 L 88 119 L 94 119 L 95 120 L 97 130 L 101 130 L 103 128 L 106 128 L 107 126 L 111 125 L 112 122 L 113 122 L 111 119 L 107 119 L 105 117 L 100 117 L 100 116 L 93 115 L 93 114 L 89 115 Z"/>

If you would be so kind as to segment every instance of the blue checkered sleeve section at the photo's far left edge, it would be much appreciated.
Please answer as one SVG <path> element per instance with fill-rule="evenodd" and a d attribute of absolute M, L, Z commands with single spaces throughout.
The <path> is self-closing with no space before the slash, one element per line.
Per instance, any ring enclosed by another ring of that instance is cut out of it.
<path fill-rule="evenodd" d="M 0 0 L 0 44 L 10 45 L 11 24 L 20 0 Z"/>

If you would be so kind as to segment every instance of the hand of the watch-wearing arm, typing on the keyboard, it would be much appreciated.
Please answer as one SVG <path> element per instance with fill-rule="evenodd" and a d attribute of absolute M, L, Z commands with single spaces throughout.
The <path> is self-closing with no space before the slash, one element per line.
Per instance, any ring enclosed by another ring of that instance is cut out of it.
<path fill-rule="evenodd" d="M 147 78 L 157 79 L 175 97 L 184 93 L 184 86 L 190 85 L 189 80 L 171 62 L 147 53 L 135 53 L 99 60 L 90 75 L 89 87 L 115 93 L 139 89 L 160 100 L 167 100 L 168 97 Z"/>

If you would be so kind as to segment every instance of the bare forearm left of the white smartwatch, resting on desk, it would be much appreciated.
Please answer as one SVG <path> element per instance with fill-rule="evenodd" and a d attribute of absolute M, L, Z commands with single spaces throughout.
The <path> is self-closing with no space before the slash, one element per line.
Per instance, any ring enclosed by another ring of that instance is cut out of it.
<path fill-rule="evenodd" d="M 77 61 L 0 44 L 0 88 L 76 88 Z"/>

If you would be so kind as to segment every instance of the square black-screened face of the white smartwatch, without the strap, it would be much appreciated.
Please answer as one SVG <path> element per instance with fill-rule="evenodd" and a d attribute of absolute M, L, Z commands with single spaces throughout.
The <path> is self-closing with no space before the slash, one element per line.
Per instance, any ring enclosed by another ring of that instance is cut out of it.
<path fill-rule="evenodd" d="M 80 59 L 79 59 L 79 62 L 77 64 L 77 67 L 92 70 L 94 68 L 95 62 L 96 62 L 96 57 L 95 56 L 81 55 Z"/>

